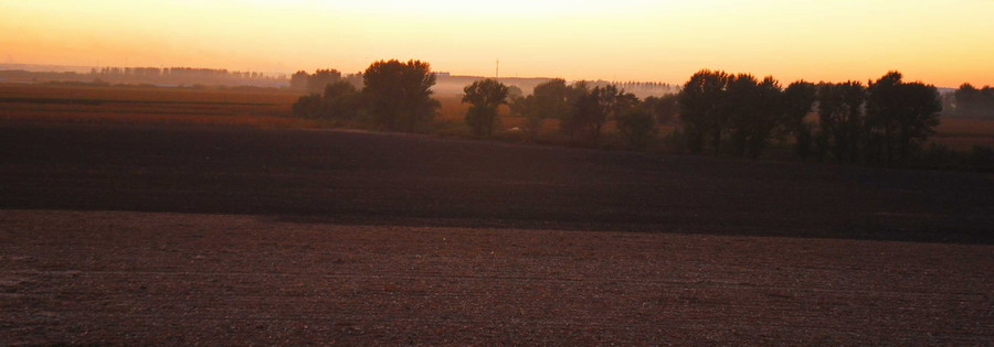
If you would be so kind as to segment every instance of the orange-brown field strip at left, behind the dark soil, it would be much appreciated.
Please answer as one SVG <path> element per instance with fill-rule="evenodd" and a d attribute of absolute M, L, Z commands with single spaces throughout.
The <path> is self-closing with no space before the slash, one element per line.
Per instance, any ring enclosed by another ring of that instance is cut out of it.
<path fill-rule="evenodd" d="M 317 128 L 274 91 L 0 84 L 0 121 Z"/>

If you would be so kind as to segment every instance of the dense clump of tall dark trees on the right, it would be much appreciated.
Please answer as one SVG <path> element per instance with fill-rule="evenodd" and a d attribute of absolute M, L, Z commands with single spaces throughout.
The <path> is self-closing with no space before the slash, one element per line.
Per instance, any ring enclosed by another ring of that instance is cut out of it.
<path fill-rule="evenodd" d="M 757 158 L 774 137 L 792 135 L 801 158 L 907 163 L 933 133 L 942 105 L 934 86 L 901 78 L 891 72 L 868 86 L 800 80 L 781 88 L 772 77 L 701 71 L 679 95 L 684 137 L 696 153 Z"/>

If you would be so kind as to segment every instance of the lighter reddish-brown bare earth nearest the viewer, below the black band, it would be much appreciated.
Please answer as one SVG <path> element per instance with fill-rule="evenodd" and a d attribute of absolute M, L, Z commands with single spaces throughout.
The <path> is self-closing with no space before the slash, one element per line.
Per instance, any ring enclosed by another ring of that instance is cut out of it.
<path fill-rule="evenodd" d="M 991 246 L 0 210 L 0 254 L 4 345 L 994 343 Z"/>

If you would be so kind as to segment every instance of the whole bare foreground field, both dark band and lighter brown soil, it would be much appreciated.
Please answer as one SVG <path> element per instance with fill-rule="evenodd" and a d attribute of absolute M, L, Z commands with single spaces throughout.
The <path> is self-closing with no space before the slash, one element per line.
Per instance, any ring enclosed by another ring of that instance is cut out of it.
<path fill-rule="evenodd" d="M 991 175 L 146 126 L 0 158 L 2 345 L 994 344 Z"/>

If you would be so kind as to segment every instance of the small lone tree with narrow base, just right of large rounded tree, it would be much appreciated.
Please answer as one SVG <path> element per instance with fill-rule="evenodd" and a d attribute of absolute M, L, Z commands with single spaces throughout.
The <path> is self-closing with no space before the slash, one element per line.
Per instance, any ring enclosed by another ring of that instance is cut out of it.
<path fill-rule="evenodd" d="M 497 108 L 507 104 L 509 88 L 496 79 L 483 79 L 463 88 L 463 102 L 468 102 L 466 123 L 476 137 L 490 137 L 498 120 Z"/>

